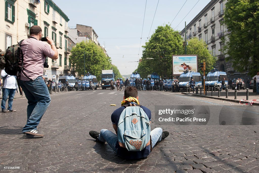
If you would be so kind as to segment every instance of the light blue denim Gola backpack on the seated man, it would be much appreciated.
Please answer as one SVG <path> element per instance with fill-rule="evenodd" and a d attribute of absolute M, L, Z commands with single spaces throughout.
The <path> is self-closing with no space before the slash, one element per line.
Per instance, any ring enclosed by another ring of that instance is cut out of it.
<path fill-rule="evenodd" d="M 141 151 L 150 145 L 150 122 L 144 110 L 131 104 L 120 114 L 118 143 L 128 151 Z"/>

